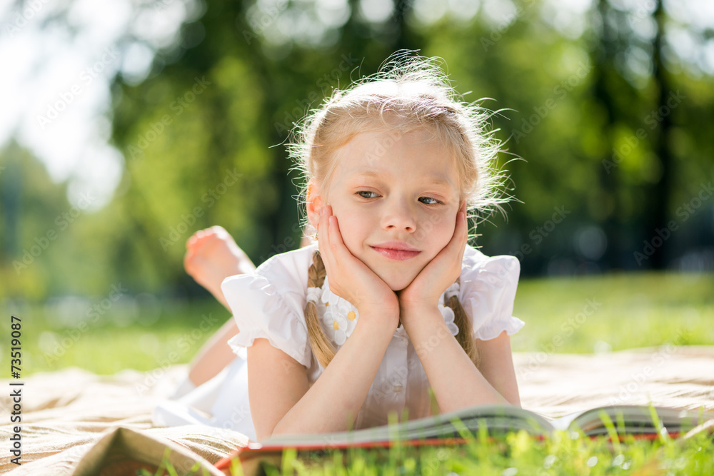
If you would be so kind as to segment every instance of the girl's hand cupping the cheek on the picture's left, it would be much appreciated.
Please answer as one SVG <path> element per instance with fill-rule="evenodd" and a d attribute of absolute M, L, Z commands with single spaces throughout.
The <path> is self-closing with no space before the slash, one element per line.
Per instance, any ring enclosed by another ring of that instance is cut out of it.
<path fill-rule="evenodd" d="M 318 246 L 329 276 L 330 290 L 352 303 L 360 316 L 371 314 L 393 319 L 396 329 L 399 320 L 396 293 L 347 249 L 331 206 L 321 209 L 319 223 Z"/>

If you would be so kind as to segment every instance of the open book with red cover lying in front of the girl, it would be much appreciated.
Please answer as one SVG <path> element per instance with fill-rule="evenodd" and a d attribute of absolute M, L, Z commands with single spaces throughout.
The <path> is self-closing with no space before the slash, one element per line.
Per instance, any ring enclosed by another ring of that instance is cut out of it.
<path fill-rule="evenodd" d="M 611 428 L 614 427 L 618 435 L 657 437 L 660 431 L 665 429 L 670 437 L 678 437 L 713 418 L 714 412 L 703 410 L 619 405 L 596 407 L 548 419 L 523 408 L 483 405 L 362 430 L 278 435 L 260 442 L 250 442 L 248 446 L 238 448 L 231 457 L 221 460 L 216 466 L 226 466 L 232 458 L 238 457 L 243 461 L 280 453 L 286 448 L 296 448 L 298 451 L 328 451 L 348 447 L 388 447 L 396 442 L 411 446 L 445 445 L 465 441 L 465 434 L 462 432 L 464 428 L 474 436 L 477 436 L 479 429 L 483 427 L 490 436 L 526 430 L 531 435 L 542 437 L 555 430 L 582 430 L 586 436 L 596 437 L 608 435 L 608 425 L 612 423 Z M 459 431 L 460 428 L 462 431 Z"/>

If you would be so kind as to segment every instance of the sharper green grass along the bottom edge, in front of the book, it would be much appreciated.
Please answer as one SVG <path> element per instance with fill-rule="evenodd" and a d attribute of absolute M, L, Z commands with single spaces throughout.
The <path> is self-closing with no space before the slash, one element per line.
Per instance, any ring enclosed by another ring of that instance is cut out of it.
<path fill-rule="evenodd" d="M 164 467 L 154 476 L 174 474 L 170 464 Z M 264 463 L 263 470 L 268 476 L 711 475 L 714 439 L 703 431 L 679 440 L 665 435 L 654 441 L 624 436 L 614 442 L 605 437 L 590 439 L 582 432 L 557 431 L 543 440 L 525 431 L 495 439 L 481 433 L 458 446 L 355 448 L 321 456 L 286 450 L 280 462 Z M 231 474 L 243 475 L 237 462 Z"/>

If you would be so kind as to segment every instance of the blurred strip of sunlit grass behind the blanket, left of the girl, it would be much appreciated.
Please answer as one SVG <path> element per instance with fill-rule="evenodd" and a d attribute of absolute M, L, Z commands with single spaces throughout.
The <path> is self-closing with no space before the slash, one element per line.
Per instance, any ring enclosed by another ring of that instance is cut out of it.
<path fill-rule="evenodd" d="M 188 363 L 231 317 L 209 300 L 154 303 L 148 310 L 115 303 L 98 319 L 86 314 L 94 304 L 68 304 L 69 311 L 63 305 L 6 306 L 3 315 L 21 318 L 23 375 L 73 366 L 111 375 L 127 368 L 146 371 Z M 4 360 L 9 345 L 9 339 L 0 340 L 3 368 L 9 367 Z"/>

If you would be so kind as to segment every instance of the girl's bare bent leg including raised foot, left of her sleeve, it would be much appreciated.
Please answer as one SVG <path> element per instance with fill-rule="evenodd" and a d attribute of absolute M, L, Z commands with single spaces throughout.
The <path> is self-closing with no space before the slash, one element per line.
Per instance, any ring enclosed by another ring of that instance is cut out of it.
<path fill-rule="evenodd" d="M 228 302 L 221 291 L 223 280 L 236 274 L 253 273 L 256 269 L 246 253 L 238 248 L 231 235 L 221 226 L 197 231 L 188 238 L 183 266 L 186 273 L 209 290 L 226 308 Z M 193 385 L 210 380 L 236 358 L 226 341 L 238 332 L 236 321 L 229 319 L 198 350 L 188 370 L 188 379 Z"/>

